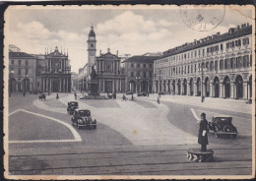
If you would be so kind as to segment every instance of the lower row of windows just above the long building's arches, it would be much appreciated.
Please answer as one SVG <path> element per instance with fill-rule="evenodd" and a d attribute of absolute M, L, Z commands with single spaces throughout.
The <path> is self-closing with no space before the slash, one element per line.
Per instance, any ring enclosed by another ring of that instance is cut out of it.
<path fill-rule="evenodd" d="M 219 66 L 218 66 L 219 65 Z M 245 55 L 233 58 L 222 59 L 211 62 L 203 62 L 191 65 L 184 65 L 179 67 L 172 67 L 169 69 L 160 70 L 162 76 L 175 76 L 196 73 L 199 67 L 207 68 L 206 71 L 218 71 L 236 68 L 252 67 L 252 55 Z"/>

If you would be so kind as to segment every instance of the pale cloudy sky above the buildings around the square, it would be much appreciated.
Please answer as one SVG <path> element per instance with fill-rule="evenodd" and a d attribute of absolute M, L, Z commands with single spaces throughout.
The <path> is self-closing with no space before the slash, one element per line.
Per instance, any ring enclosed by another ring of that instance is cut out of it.
<path fill-rule="evenodd" d="M 88 61 L 87 40 L 91 26 L 96 32 L 96 55 L 110 48 L 115 54 L 142 55 L 162 52 L 241 24 L 252 24 L 252 11 L 244 7 L 225 6 L 214 10 L 224 13 L 221 24 L 213 30 L 199 31 L 189 28 L 181 17 L 180 7 L 11 7 L 6 11 L 5 31 L 8 44 L 15 44 L 23 52 L 44 54 L 45 48 L 67 50 L 71 71 Z M 224 9 L 224 10 L 223 10 Z M 204 10 L 205 14 L 208 11 Z M 213 11 L 208 12 L 208 17 Z M 6 33 L 8 32 L 8 33 Z"/>

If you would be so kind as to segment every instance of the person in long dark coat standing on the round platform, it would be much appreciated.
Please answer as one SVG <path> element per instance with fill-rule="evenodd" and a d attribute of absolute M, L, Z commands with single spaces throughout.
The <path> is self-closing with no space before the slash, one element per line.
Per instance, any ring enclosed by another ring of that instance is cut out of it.
<path fill-rule="evenodd" d="M 206 113 L 201 114 L 201 120 L 198 122 L 199 131 L 198 131 L 198 144 L 201 145 L 201 151 L 207 151 L 208 145 L 208 121 L 206 120 Z"/>

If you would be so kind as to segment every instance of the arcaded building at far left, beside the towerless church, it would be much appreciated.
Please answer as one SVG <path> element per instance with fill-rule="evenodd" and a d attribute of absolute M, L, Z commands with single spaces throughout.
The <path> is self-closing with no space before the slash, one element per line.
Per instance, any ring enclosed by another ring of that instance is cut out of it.
<path fill-rule="evenodd" d="M 9 50 L 9 93 L 32 92 L 35 85 L 36 58 L 28 53 Z"/>

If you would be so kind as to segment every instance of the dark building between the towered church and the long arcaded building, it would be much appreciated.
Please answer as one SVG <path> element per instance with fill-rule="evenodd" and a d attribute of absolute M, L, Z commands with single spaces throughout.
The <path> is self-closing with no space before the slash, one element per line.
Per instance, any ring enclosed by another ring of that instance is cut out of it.
<path fill-rule="evenodd" d="M 139 55 L 124 61 L 125 91 L 153 92 L 154 60 L 160 56 Z"/>

